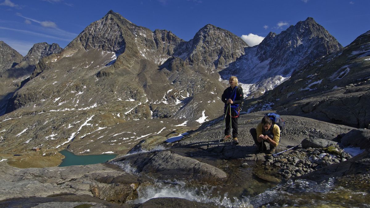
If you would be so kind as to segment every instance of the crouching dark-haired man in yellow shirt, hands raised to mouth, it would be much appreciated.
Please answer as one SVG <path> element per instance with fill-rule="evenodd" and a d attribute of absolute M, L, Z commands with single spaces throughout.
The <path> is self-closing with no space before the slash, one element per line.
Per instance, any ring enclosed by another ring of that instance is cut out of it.
<path fill-rule="evenodd" d="M 277 124 L 272 124 L 272 120 L 265 116 L 257 128 L 251 128 L 250 134 L 257 145 L 259 153 L 274 154 L 280 140 L 280 128 Z M 270 149 L 267 150 L 265 142 L 270 144 Z"/>

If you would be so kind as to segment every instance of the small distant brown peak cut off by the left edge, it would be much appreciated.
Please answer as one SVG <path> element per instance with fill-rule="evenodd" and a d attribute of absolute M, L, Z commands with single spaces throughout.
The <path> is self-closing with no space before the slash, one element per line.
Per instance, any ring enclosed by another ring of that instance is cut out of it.
<path fill-rule="evenodd" d="M 4 41 L 0 41 L 0 74 L 8 68 L 15 67 L 23 59 L 23 56 L 11 48 Z"/>

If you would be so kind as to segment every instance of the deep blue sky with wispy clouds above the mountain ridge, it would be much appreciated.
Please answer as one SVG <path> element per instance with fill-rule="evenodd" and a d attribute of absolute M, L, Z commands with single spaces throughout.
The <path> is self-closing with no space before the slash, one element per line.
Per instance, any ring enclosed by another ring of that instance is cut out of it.
<path fill-rule="evenodd" d="M 307 17 L 346 46 L 370 30 L 370 0 L 0 0 L 0 40 L 25 56 L 35 43 L 67 46 L 109 10 L 188 41 L 206 24 L 249 44 Z"/>

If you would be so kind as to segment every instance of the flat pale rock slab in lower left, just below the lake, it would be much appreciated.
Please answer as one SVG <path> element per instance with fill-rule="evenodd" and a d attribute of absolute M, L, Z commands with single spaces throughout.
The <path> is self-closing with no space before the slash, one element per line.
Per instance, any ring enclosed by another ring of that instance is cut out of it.
<path fill-rule="evenodd" d="M 0 165 L 0 200 L 76 194 L 125 202 L 135 197 L 138 185 L 136 176 L 108 164 L 26 169 Z"/>

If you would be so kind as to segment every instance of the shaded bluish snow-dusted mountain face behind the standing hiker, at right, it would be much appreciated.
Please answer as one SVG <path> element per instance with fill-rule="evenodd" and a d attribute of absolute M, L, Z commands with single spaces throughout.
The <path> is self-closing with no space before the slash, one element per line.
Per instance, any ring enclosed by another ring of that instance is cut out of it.
<path fill-rule="evenodd" d="M 342 46 L 312 18 L 290 26 L 280 34 L 269 33 L 257 45 L 221 71 L 221 77 L 236 75 L 248 98 L 259 97 L 287 80 L 316 58 L 338 51 Z"/>

